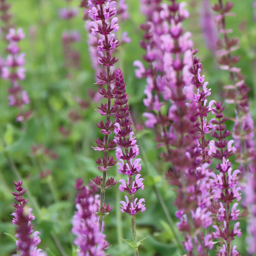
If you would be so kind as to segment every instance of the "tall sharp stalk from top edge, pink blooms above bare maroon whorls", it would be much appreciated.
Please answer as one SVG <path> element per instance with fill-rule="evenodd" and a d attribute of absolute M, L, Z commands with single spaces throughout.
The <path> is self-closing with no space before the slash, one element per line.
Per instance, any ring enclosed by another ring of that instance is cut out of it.
<path fill-rule="evenodd" d="M 91 33 L 94 36 L 99 35 L 98 40 L 98 62 L 105 67 L 106 73 L 100 73 L 98 75 L 98 84 L 107 84 L 107 90 L 103 87 L 100 90 L 100 94 L 107 98 L 107 103 L 101 103 L 98 107 L 98 112 L 102 116 L 106 116 L 106 122 L 103 121 L 98 123 L 98 128 L 101 129 L 101 133 L 104 134 L 103 140 L 98 138 L 96 140 L 97 147 L 95 150 L 104 151 L 104 157 L 98 158 L 96 161 L 98 163 L 98 170 L 102 171 L 102 177 L 96 177 L 92 179 L 92 182 L 100 188 L 100 206 L 99 206 L 99 227 L 102 230 L 103 217 L 109 214 L 112 207 L 105 204 L 105 191 L 107 188 L 112 187 L 116 182 L 113 178 L 107 181 L 107 171 L 112 167 L 116 161 L 113 157 L 109 156 L 109 150 L 115 148 L 116 144 L 114 141 L 109 140 L 109 135 L 111 131 L 114 130 L 114 124 L 110 121 L 111 115 L 115 114 L 115 109 L 111 106 L 111 99 L 114 98 L 111 89 L 111 83 L 115 80 L 115 75 L 110 73 L 110 67 L 115 64 L 118 60 L 111 56 L 111 50 L 119 46 L 119 41 L 115 39 L 115 34 L 112 32 L 117 32 L 119 29 L 117 17 L 113 17 L 116 14 L 116 9 L 113 7 L 113 1 L 109 2 L 107 0 L 88 0 L 88 15 L 93 20 L 89 23 L 91 27 Z M 98 24 L 100 21 L 101 24 Z M 108 22 L 109 21 L 109 22 Z"/>

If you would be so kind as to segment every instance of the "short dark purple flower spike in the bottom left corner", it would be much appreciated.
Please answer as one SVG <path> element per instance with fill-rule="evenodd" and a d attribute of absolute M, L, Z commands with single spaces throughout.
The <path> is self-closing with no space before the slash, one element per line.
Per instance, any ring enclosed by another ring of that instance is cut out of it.
<path fill-rule="evenodd" d="M 23 198 L 24 193 L 27 189 L 23 189 L 22 181 L 14 182 L 15 190 L 13 192 L 14 200 L 17 203 L 14 203 L 13 206 L 16 208 L 16 212 L 12 213 L 14 217 L 12 223 L 17 225 L 16 235 L 18 238 L 16 245 L 18 252 L 21 256 L 47 256 L 41 249 L 37 249 L 37 245 L 41 242 L 40 238 L 37 236 L 38 231 L 33 233 L 33 227 L 31 221 L 35 219 L 35 216 L 31 213 L 32 209 L 25 209 L 25 206 L 28 200 Z M 33 236 L 31 238 L 31 235 Z"/>

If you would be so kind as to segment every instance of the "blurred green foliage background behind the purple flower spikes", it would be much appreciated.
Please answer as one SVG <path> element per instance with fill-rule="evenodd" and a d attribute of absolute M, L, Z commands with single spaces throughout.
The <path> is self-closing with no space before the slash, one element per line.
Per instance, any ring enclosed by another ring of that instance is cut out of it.
<path fill-rule="evenodd" d="M 17 110 L 8 107 L 7 88 L 8 81 L 1 80 L 0 86 L 0 256 L 11 256 L 15 253 L 15 242 L 5 233 L 15 234 L 10 214 L 14 211 L 12 203 L 14 191 L 12 181 L 18 178 L 24 180 L 24 188 L 29 188 L 26 198 L 28 206 L 33 208 L 36 219 L 33 221 L 34 230 L 41 235 L 39 248 L 45 250 L 49 256 L 75 256 L 73 247 L 74 236 L 71 233 L 71 219 L 74 212 L 75 189 L 74 179 L 82 177 L 85 183 L 89 178 L 100 175 L 95 159 L 101 155 L 94 151 L 94 139 L 101 136 L 96 123 L 101 116 L 94 111 L 97 104 L 82 112 L 83 120 L 71 124 L 67 118 L 70 110 L 78 110 L 74 96 L 89 99 L 87 90 L 94 88 L 94 72 L 91 68 L 87 49 L 87 38 L 82 20 L 82 10 L 78 17 L 73 19 L 72 28 L 81 32 L 82 40 L 73 46 L 80 52 L 81 69 L 73 70 L 73 77 L 67 76 L 63 67 L 63 54 L 61 34 L 67 29 L 67 23 L 61 20 L 58 9 L 65 6 L 63 0 L 9 0 L 12 3 L 12 22 L 16 28 L 23 27 L 26 34 L 20 47 L 26 53 L 27 77 L 21 82 L 31 98 L 33 117 L 26 125 L 15 122 Z M 195 47 L 200 51 L 197 57 L 204 65 L 202 73 L 212 88 L 210 99 L 223 100 L 222 85 L 228 85 L 228 74 L 220 71 L 218 64 L 212 57 L 211 51 L 205 46 L 200 30 L 200 0 L 186 0 L 191 12 L 189 20 L 184 22 L 184 30 L 193 33 Z M 217 1 L 212 1 L 215 3 Z M 239 37 L 242 58 L 239 66 L 246 75 L 246 83 L 251 87 L 250 101 L 254 119 L 256 119 L 256 23 L 253 22 L 252 0 L 234 2 L 235 17 L 227 17 L 227 27 L 233 29 L 233 36 Z M 77 6 L 79 0 L 74 0 Z M 117 53 L 120 61 L 117 64 L 124 71 L 129 94 L 129 104 L 133 121 L 143 124 L 142 113 L 145 111 L 142 99 L 145 80 L 138 80 L 134 76 L 132 66 L 134 60 L 141 60 L 144 50 L 139 47 L 139 40 L 143 35 L 139 24 L 144 22 L 139 12 L 138 0 L 127 0 L 131 18 L 120 23 L 122 31 L 128 31 L 132 43 L 119 48 Z M 239 28 L 245 23 L 245 29 Z M 6 43 L 0 42 L 0 52 L 6 57 Z M 232 106 L 226 108 L 227 116 L 233 116 Z M 70 137 L 64 138 L 58 131 L 59 126 L 71 127 Z M 230 122 L 230 129 L 232 123 Z M 149 129 L 137 131 L 136 138 L 140 146 L 143 159 L 142 176 L 145 178 L 145 190 L 139 191 L 138 197 L 146 199 L 146 211 L 137 215 L 138 239 L 149 236 L 140 246 L 141 256 L 172 256 L 183 252 L 175 242 L 174 233 L 159 203 L 156 189 L 162 196 L 167 208 L 175 222 L 173 228 L 182 240 L 176 228 L 175 207 L 172 202 L 175 193 L 164 179 L 167 165 L 158 157 L 161 149 L 156 149 L 154 134 Z M 31 146 L 42 144 L 58 153 L 59 158 L 52 160 L 38 156 L 31 156 Z M 40 178 L 42 170 L 50 169 L 51 175 Z M 116 180 L 120 179 L 116 167 L 109 171 Z M 109 254 L 113 256 L 133 255 L 128 245 L 119 238 L 131 239 L 130 218 L 120 213 L 119 201 L 123 200 L 124 193 L 119 192 L 118 185 L 107 191 L 106 202 L 113 206 L 110 216 L 105 219 L 105 233 L 107 240 L 113 244 Z M 122 223 L 117 219 L 122 218 Z M 121 225 L 122 224 L 122 225 Z M 245 221 L 241 220 L 243 235 L 236 239 L 242 255 L 246 255 Z M 214 252 L 212 252 L 214 254 Z"/>

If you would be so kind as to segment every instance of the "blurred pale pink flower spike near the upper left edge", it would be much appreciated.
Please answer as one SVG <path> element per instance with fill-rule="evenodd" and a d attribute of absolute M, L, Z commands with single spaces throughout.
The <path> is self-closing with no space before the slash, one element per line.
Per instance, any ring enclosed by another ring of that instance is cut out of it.
<path fill-rule="evenodd" d="M 8 89 L 9 93 L 9 106 L 16 106 L 20 113 L 16 118 L 17 122 L 26 121 L 31 115 L 30 111 L 22 111 L 25 104 L 29 104 L 30 100 L 28 94 L 19 85 L 19 80 L 25 79 L 25 53 L 19 53 L 20 48 L 18 47 L 18 42 L 25 37 L 22 28 L 17 31 L 14 28 L 10 28 L 9 33 L 6 38 L 9 41 L 8 52 L 9 55 L 5 61 L 5 66 L 2 68 L 2 78 L 9 79 L 12 83 L 12 87 Z"/>

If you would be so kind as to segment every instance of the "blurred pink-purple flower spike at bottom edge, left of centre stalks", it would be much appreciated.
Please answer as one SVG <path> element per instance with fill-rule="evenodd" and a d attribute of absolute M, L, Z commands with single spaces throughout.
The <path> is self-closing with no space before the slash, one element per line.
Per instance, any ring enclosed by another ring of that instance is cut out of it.
<path fill-rule="evenodd" d="M 105 235 L 100 232 L 96 215 L 100 204 L 99 195 L 93 195 L 83 184 L 82 179 L 75 183 L 77 195 L 75 199 L 76 211 L 72 219 L 72 232 L 76 235 L 74 244 L 79 247 L 78 256 L 104 256 L 104 249 L 109 245 Z"/>

